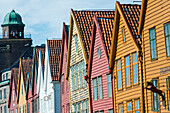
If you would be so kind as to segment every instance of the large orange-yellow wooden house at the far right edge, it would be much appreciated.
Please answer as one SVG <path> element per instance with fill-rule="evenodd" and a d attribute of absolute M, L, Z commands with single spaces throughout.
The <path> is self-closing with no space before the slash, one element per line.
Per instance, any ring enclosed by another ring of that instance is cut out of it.
<path fill-rule="evenodd" d="M 142 0 L 139 34 L 143 40 L 143 76 L 162 91 L 144 90 L 146 113 L 170 112 L 170 1 Z"/>

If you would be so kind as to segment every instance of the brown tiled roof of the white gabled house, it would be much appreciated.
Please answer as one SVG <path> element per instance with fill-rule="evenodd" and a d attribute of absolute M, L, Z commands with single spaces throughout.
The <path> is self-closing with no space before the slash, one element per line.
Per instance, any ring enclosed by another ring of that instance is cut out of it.
<path fill-rule="evenodd" d="M 48 40 L 52 81 L 58 80 L 61 41 L 61 39 Z"/>

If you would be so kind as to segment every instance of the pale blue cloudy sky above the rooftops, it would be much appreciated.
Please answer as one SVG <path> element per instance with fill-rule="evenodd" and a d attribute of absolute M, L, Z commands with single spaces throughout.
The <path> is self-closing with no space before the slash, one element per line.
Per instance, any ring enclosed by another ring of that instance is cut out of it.
<path fill-rule="evenodd" d="M 133 0 L 119 0 L 133 3 Z M 33 45 L 46 39 L 61 38 L 62 24 L 69 24 L 70 9 L 114 9 L 116 0 L 0 0 L 0 23 L 14 9 L 22 16 L 25 32 L 31 33 Z M 2 33 L 2 29 L 0 31 Z"/>

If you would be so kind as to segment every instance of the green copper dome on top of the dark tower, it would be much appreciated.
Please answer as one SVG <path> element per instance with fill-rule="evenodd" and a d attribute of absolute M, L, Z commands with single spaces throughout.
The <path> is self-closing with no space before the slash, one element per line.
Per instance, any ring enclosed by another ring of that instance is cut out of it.
<path fill-rule="evenodd" d="M 10 13 L 8 13 L 5 16 L 4 22 L 1 26 L 6 26 L 6 25 L 21 25 L 21 26 L 24 26 L 21 16 L 18 13 L 16 13 L 14 10 L 12 10 Z"/>

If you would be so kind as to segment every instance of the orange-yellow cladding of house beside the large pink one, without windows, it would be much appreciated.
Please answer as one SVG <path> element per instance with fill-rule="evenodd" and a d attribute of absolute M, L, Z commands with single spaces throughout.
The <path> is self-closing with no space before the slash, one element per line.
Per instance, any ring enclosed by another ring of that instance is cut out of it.
<path fill-rule="evenodd" d="M 116 57 L 114 62 L 114 69 L 113 69 L 113 77 L 114 77 L 114 102 L 115 102 L 115 112 L 118 113 L 118 106 L 120 104 L 123 105 L 123 111 L 127 112 L 127 102 L 132 101 L 132 109 L 134 111 L 134 101 L 135 99 L 140 99 L 140 109 L 141 109 L 141 65 L 139 63 L 139 56 L 138 56 L 138 84 L 133 84 L 133 70 L 132 70 L 132 54 L 137 53 L 138 50 L 135 47 L 135 44 L 132 40 L 132 37 L 128 31 L 127 27 L 124 27 L 125 23 L 120 16 L 119 21 L 119 30 L 118 30 L 118 37 L 117 37 L 117 48 L 116 48 Z M 125 38 L 126 41 L 123 41 L 122 35 L 122 28 L 125 30 Z M 125 57 L 129 56 L 130 58 L 130 81 L 131 85 L 126 86 L 126 73 L 125 73 Z M 117 87 L 117 61 L 121 61 L 121 76 L 122 76 L 122 89 L 118 89 Z"/>

